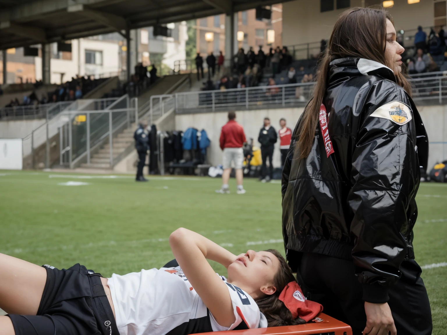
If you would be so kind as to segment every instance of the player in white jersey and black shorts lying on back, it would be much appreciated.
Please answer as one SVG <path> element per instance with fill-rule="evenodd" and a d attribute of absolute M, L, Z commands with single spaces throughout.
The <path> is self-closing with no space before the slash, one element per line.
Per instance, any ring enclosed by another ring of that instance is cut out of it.
<path fill-rule="evenodd" d="M 236 256 L 184 228 L 169 244 L 176 266 L 110 278 L 80 264 L 58 270 L 0 254 L 0 308 L 9 313 L 0 335 L 195 334 L 296 325 L 322 310 L 276 250 Z"/>

